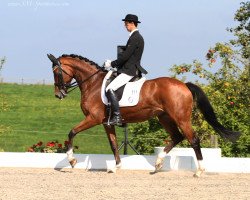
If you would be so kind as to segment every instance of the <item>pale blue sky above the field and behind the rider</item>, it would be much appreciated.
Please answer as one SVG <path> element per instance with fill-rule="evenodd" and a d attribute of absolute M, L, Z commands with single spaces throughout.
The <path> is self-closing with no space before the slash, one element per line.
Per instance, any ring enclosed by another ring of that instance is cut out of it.
<path fill-rule="evenodd" d="M 226 42 L 242 0 L 1 0 L 0 72 L 4 82 L 53 83 L 47 54 L 78 54 L 102 65 L 114 60 L 129 33 L 122 19 L 139 17 L 148 79 L 170 76 L 174 64 L 205 61 Z M 192 77 L 188 77 L 192 79 Z"/>

